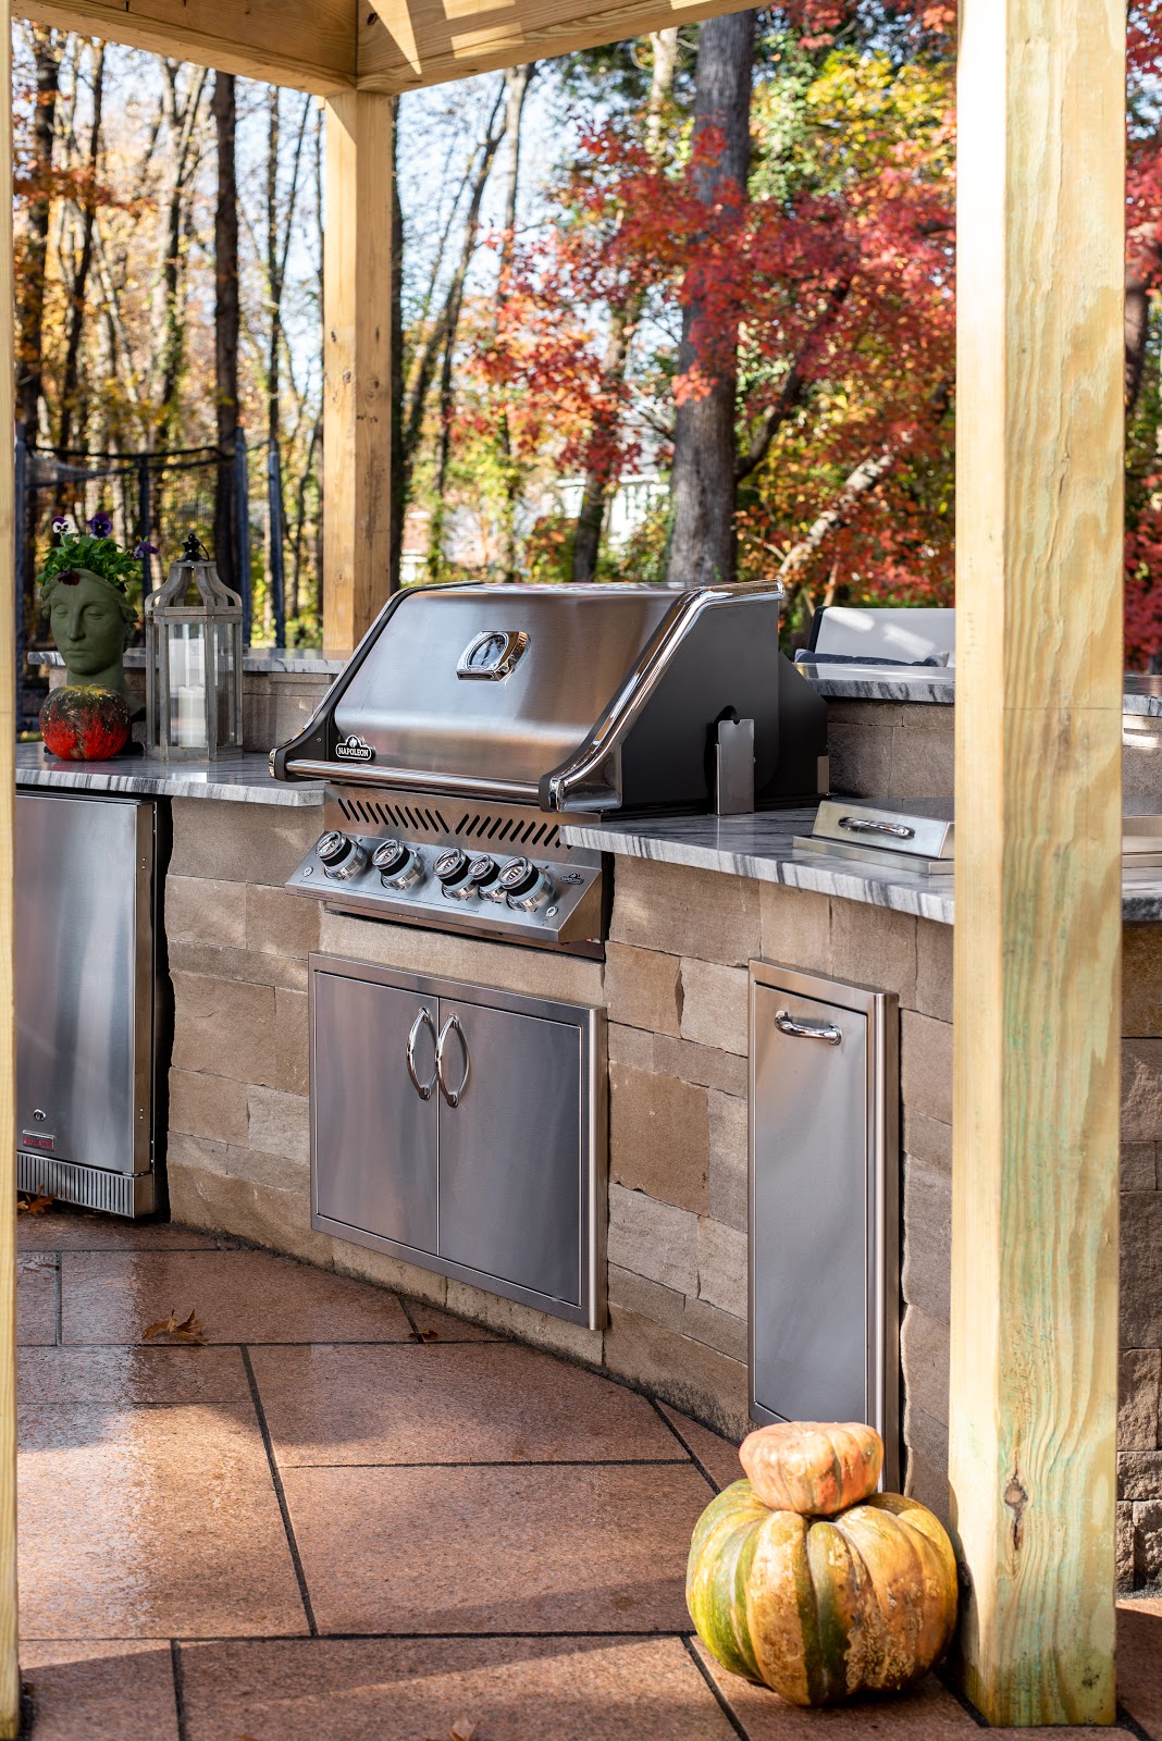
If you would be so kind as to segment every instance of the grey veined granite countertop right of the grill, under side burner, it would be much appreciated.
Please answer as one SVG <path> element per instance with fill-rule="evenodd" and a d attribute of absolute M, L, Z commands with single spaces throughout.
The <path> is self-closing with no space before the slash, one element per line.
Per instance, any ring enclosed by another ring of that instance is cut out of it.
<path fill-rule="evenodd" d="M 767 810 L 753 817 L 651 817 L 640 822 L 567 823 L 560 834 L 571 846 L 623 858 L 783 883 L 952 924 L 952 877 L 936 881 L 910 870 L 875 870 L 825 853 L 797 855 L 791 836 L 811 834 L 814 815 L 812 806 Z M 1162 919 L 1162 865 L 1122 872 L 1122 918 L 1138 923 Z"/>

